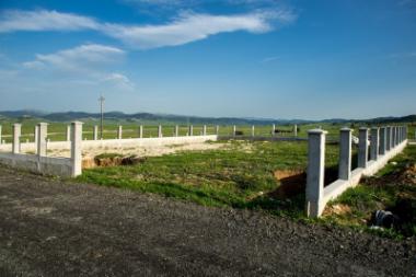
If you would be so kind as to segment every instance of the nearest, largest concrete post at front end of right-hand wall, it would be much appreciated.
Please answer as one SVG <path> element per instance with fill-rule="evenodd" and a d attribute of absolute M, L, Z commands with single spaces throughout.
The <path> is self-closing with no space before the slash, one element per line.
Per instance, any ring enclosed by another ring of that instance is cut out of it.
<path fill-rule="evenodd" d="M 325 174 L 325 136 L 327 131 L 308 131 L 308 177 L 305 206 L 308 217 L 319 217 L 323 209 Z"/>

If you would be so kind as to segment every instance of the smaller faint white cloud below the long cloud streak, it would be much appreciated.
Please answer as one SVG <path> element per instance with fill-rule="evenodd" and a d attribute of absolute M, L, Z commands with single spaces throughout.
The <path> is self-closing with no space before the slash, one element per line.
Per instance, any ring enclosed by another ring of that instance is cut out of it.
<path fill-rule="evenodd" d="M 35 60 L 23 64 L 26 68 L 55 67 L 61 70 L 80 70 L 95 65 L 113 62 L 124 56 L 125 51 L 106 45 L 85 44 L 54 54 L 37 54 Z"/>

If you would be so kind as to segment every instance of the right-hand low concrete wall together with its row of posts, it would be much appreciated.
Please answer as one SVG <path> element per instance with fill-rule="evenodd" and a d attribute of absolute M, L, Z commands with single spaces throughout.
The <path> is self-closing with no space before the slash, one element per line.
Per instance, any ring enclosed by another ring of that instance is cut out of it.
<path fill-rule="evenodd" d="M 386 134 L 392 131 L 391 147 L 386 145 Z M 324 184 L 325 170 L 325 136 L 326 131 L 313 129 L 309 137 L 308 180 L 305 193 L 305 210 L 308 217 L 320 217 L 325 205 L 343 194 L 347 188 L 359 184 L 362 176 L 371 176 L 381 170 L 390 159 L 401 153 L 407 145 L 407 139 L 401 134 L 406 127 L 371 128 L 371 141 L 368 142 L 368 129 L 360 128 L 358 149 L 358 166 L 351 171 L 351 130 L 343 128 L 339 140 L 338 180 L 326 187 Z M 380 131 L 381 130 L 381 131 Z M 380 135 L 382 138 L 380 138 Z M 380 141 L 382 143 L 380 143 Z M 368 161 L 368 145 L 370 145 L 370 161 Z"/>

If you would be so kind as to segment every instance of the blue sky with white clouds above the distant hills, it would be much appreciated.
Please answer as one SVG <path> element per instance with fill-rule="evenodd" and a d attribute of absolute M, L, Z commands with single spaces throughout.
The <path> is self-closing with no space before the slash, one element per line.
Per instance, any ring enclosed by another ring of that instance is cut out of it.
<path fill-rule="evenodd" d="M 416 114 L 416 0 L 0 0 L 0 111 Z"/>

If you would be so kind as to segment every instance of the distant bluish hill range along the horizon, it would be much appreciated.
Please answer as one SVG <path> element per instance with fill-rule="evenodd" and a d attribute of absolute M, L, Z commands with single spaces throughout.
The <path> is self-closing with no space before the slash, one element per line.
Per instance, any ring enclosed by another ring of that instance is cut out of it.
<path fill-rule="evenodd" d="M 0 118 L 38 118 L 48 122 L 71 122 L 71 120 L 85 120 L 85 119 L 100 119 L 99 113 L 85 112 L 62 112 L 62 113 L 45 113 L 41 111 L 5 111 L 0 112 Z M 169 114 L 150 114 L 150 113 L 136 113 L 125 114 L 122 112 L 108 112 L 104 114 L 105 119 L 112 120 L 154 120 L 154 122 L 170 122 L 170 123 L 192 123 L 192 124 L 219 124 L 219 125 L 291 125 L 291 124 L 308 124 L 308 123 L 367 123 L 367 124 L 382 124 L 382 123 L 398 123 L 398 122 L 416 122 L 416 115 L 407 115 L 402 117 L 377 117 L 370 119 L 344 119 L 332 118 L 324 120 L 303 120 L 303 119 L 273 119 L 273 118 L 244 118 L 244 117 L 199 117 L 199 116 L 185 116 L 185 115 L 169 115 Z"/>

